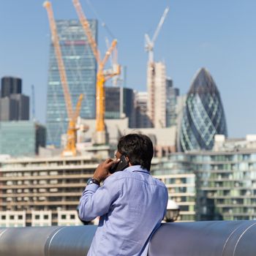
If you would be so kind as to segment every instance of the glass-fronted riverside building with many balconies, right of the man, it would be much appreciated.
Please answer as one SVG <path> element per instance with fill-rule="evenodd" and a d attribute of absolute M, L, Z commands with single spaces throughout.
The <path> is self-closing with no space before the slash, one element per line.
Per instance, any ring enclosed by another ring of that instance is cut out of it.
<path fill-rule="evenodd" d="M 170 189 L 170 198 L 186 210 L 181 220 L 256 219 L 255 136 L 217 138 L 212 151 L 173 153 L 152 168 Z"/>

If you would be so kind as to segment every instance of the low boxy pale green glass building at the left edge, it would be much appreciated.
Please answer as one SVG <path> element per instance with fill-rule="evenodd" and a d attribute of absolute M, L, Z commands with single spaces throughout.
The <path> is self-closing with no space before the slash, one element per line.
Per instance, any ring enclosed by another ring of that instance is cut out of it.
<path fill-rule="evenodd" d="M 45 146 L 46 130 L 34 121 L 1 121 L 0 154 L 34 156 Z"/>

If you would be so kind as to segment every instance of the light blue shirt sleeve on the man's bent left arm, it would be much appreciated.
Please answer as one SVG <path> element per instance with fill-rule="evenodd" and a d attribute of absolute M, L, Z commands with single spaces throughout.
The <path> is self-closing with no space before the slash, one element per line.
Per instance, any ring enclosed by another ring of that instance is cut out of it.
<path fill-rule="evenodd" d="M 102 187 L 89 184 L 83 191 L 79 203 L 79 217 L 87 222 L 107 214 L 112 203 L 120 195 L 120 184 L 112 176 L 106 178 Z"/>

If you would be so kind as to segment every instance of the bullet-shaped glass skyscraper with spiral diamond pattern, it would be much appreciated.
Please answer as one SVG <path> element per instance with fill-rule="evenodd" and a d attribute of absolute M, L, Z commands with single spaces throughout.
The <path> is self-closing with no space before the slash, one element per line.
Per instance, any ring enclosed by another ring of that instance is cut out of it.
<path fill-rule="evenodd" d="M 214 135 L 227 136 L 225 113 L 213 78 L 208 70 L 202 68 L 195 75 L 187 94 L 179 150 L 211 150 Z"/>

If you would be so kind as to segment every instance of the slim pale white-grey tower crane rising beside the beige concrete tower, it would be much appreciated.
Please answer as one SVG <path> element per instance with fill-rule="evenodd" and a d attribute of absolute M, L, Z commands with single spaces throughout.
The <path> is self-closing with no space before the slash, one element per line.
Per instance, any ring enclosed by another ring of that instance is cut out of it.
<path fill-rule="evenodd" d="M 148 97 L 149 97 L 149 102 L 148 102 L 148 116 L 151 119 L 151 122 L 153 126 L 155 126 L 155 111 L 154 111 L 154 104 L 155 104 L 155 64 L 154 64 L 154 42 L 157 39 L 157 36 L 159 34 L 160 29 L 162 28 L 162 24 L 165 21 L 166 15 L 169 11 L 169 7 L 165 8 L 164 13 L 162 14 L 162 17 L 158 23 L 157 29 L 154 32 L 154 36 L 152 39 L 148 37 L 148 34 L 145 34 L 145 48 L 146 51 L 148 52 L 148 72 L 147 72 L 147 86 L 148 86 Z"/>

